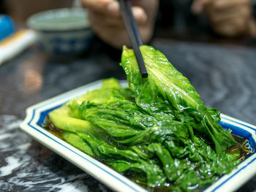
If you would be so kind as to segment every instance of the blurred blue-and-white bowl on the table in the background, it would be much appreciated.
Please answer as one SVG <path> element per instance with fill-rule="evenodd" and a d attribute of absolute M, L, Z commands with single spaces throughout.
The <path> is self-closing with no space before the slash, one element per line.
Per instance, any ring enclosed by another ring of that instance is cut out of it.
<path fill-rule="evenodd" d="M 89 50 L 93 39 L 87 11 L 83 8 L 52 9 L 39 12 L 27 21 L 37 31 L 39 46 L 56 56 L 73 56 Z"/>

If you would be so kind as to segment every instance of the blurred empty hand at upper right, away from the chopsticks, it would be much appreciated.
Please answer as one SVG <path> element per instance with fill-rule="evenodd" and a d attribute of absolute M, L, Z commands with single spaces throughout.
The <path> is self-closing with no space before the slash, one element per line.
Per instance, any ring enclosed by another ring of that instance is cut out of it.
<path fill-rule="evenodd" d="M 194 0 L 192 11 L 205 14 L 217 34 L 226 37 L 250 34 L 253 19 L 249 0 Z"/>

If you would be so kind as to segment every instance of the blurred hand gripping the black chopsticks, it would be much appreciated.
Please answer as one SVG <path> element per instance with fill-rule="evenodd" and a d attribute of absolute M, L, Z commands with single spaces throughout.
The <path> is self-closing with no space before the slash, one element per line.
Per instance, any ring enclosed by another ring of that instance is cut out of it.
<path fill-rule="evenodd" d="M 89 11 L 91 28 L 99 38 L 113 47 L 130 46 L 117 0 L 80 0 Z M 132 0 L 132 12 L 143 42 L 151 39 L 159 0 Z"/>

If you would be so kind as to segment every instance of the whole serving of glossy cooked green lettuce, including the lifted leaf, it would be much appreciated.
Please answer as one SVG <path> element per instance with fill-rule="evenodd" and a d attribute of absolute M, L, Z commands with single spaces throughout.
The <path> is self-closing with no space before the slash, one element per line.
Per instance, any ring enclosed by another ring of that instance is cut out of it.
<path fill-rule="evenodd" d="M 203 104 L 165 55 L 149 46 L 140 50 L 148 78 L 124 47 L 129 88 L 104 80 L 102 88 L 50 112 L 50 121 L 71 145 L 146 188 L 204 188 L 240 162 L 239 153 L 226 153 L 236 142 L 219 126 L 219 111 Z"/>

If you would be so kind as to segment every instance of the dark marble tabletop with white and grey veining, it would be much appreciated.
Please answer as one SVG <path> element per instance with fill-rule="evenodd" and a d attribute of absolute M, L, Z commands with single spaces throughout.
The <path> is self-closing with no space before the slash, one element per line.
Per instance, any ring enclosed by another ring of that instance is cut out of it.
<path fill-rule="evenodd" d="M 155 39 L 206 106 L 256 125 L 256 49 Z M 19 129 L 26 107 L 106 77 L 125 79 L 120 53 L 95 43 L 56 61 L 31 47 L 0 66 L 0 191 L 111 191 Z M 238 191 L 256 191 L 256 177 Z"/>

